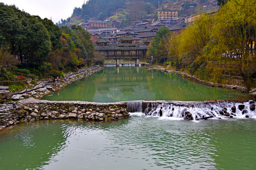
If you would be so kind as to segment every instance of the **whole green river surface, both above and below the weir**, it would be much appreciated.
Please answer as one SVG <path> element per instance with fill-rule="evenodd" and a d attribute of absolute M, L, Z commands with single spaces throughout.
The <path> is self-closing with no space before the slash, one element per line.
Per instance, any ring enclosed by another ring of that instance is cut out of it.
<path fill-rule="evenodd" d="M 201 101 L 248 97 L 178 74 L 111 67 L 48 100 Z M 45 120 L 0 131 L 0 170 L 255 170 L 256 114 L 185 121 L 141 112 L 109 122 Z"/>

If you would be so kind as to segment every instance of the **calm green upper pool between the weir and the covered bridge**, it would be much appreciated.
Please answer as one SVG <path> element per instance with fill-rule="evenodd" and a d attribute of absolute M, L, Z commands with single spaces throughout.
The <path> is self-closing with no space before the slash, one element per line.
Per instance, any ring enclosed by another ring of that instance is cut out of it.
<path fill-rule="evenodd" d="M 136 100 L 204 101 L 250 97 L 144 67 L 106 67 L 42 99 L 55 101 L 120 102 Z"/>

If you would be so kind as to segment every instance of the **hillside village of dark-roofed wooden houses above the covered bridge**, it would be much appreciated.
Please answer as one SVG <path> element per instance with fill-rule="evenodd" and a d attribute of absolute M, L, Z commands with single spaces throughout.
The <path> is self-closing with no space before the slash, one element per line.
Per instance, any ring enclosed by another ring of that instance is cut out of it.
<path fill-rule="evenodd" d="M 205 5 L 196 2 L 166 3 L 162 6 L 162 9 L 158 9 L 158 12 L 156 12 L 157 19 L 136 20 L 125 27 L 121 27 L 122 19 L 119 19 L 118 14 L 116 17 L 110 17 L 110 19 L 88 19 L 76 25 L 82 26 L 82 28 L 90 33 L 91 40 L 94 44 L 96 44 L 99 38 L 103 38 L 108 43 L 117 43 L 122 37 L 130 36 L 133 42 L 145 42 L 145 44 L 148 45 L 155 36 L 155 32 L 157 32 L 160 27 L 166 26 L 173 33 L 179 33 L 185 29 L 188 24 L 200 17 L 195 11 L 199 8 L 209 10 L 209 6 L 214 6 L 214 3 L 216 3 L 214 0 L 210 1 L 210 3 L 205 2 Z M 213 8 L 211 8 L 211 10 L 213 10 Z M 181 15 L 184 12 L 186 12 L 186 15 L 179 16 L 179 14 Z M 188 14 L 192 15 L 188 16 Z"/>

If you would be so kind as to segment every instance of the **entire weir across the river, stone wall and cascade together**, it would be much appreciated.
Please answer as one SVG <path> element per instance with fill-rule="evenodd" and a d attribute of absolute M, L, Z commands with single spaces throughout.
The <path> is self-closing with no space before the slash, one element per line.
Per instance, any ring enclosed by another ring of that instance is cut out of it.
<path fill-rule="evenodd" d="M 143 112 L 148 116 L 177 119 L 256 118 L 254 100 L 223 100 L 204 102 L 131 101 L 81 102 L 46 101 L 28 98 L 16 103 L 0 104 L 0 130 L 20 121 L 44 119 L 82 119 L 108 121 L 129 117 L 128 112 Z"/>

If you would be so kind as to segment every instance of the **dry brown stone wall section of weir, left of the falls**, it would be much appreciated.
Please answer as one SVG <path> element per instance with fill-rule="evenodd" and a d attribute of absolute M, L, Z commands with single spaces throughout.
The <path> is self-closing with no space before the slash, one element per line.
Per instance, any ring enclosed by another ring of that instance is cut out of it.
<path fill-rule="evenodd" d="M 114 120 L 128 117 L 126 102 L 97 103 L 80 101 L 46 101 L 29 98 L 19 102 L 31 119 Z M 38 118 L 40 117 L 40 118 Z"/>

